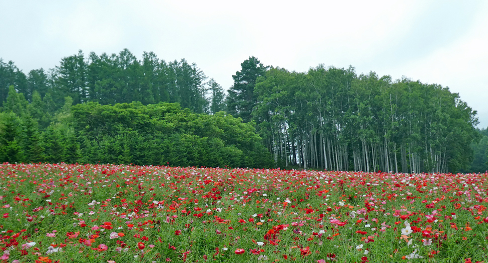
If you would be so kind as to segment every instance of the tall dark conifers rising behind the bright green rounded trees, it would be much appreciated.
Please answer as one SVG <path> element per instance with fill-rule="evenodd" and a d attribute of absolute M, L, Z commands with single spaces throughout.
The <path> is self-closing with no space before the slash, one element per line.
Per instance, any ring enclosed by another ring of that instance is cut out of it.
<path fill-rule="evenodd" d="M 91 52 L 88 57 L 79 50 L 62 58 L 59 66 L 31 70 L 27 75 L 12 61 L 0 59 L 0 107 L 10 85 L 28 102 L 37 92 L 53 109 L 60 109 L 64 98 L 71 97 L 74 105 L 138 101 L 143 105 L 179 103 L 195 113 L 224 110 L 222 87 L 208 80 L 195 63 L 185 59 L 166 62 L 153 52 L 144 52 L 138 60 L 127 49 L 112 55 Z"/>

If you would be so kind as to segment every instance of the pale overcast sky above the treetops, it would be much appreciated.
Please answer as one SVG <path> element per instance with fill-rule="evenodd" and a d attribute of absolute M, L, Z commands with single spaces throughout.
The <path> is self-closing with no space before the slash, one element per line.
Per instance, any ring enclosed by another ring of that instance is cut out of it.
<path fill-rule="evenodd" d="M 0 58 L 28 73 L 83 50 L 185 58 L 227 90 L 250 56 L 448 86 L 488 127 L 488 1 L 0 0 Z"/>

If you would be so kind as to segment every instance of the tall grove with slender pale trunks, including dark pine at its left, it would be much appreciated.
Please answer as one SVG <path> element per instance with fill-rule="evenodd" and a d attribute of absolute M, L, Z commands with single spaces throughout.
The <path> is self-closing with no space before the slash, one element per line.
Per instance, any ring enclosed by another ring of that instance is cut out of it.
<path fill-rule="evenodd" d="M 290 72 L 254 57 L 241 66 L 227 110 L 256 122 L 279 165 L 410 173 L 486 168 L 476 111 L 447 87 L 358 75 L 352 66 Z"/>

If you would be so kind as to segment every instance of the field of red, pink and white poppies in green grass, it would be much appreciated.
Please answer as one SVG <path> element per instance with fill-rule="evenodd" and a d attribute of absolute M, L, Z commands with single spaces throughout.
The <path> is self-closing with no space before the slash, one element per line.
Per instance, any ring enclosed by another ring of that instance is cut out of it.
<path fill-rule="evenodd" d="M 0 164 L 2 262 L 488 262 L 488 174 Z"/>

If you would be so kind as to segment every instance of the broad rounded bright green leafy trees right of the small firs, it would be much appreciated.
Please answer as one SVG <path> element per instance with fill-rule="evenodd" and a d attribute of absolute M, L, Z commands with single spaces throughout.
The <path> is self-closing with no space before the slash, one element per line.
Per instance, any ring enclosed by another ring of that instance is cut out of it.
<path fill-rule="evenodd" d="M 78 104 L 71 112 L 90 162 L 176 166 L 269 166 L 251 124 L 224 112 L 195 114 L 178 104 Z"/>

